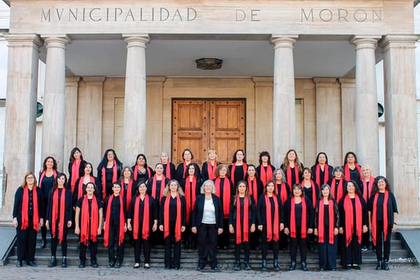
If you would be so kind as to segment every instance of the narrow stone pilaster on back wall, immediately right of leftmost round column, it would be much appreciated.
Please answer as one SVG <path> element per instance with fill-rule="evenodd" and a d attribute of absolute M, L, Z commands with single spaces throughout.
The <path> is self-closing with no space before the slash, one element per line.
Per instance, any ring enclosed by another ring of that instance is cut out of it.
<path fill-rule="evenodd" d="M 71 149 L 76 147 L 77 137 L 77 97 L 80 77 L 66 78 L 66 125 L 64 132 L 64 161 L 70 156 Z M 84 153 L 84 151 L 82 151 Z M 64 164 L 64 172 L 68 174 Z"/>

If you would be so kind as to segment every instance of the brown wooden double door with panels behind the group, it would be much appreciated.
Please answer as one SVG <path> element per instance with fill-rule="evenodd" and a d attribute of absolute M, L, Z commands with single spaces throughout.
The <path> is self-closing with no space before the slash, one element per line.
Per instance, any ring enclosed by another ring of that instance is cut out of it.
<path fill-rule="evenodd" d="M 245 149 L 245 106 L 245 99 L 173 99 L 172 161 L 182 162 L 189 148 L 201 167 L 209 148 L 215 148 L 219 162 L 232 162 L 233 153 Z"/>

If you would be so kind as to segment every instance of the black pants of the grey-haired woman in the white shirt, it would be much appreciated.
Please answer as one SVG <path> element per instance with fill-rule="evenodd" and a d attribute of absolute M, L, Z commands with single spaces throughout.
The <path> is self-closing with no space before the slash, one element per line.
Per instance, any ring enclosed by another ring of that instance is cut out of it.
<path fill-rule="evenodd" d="M 212 267 L 217 266 L 217 225 L 202 223 L 197 228 L 198 265 L 204 267 L 207 259 Z"/>

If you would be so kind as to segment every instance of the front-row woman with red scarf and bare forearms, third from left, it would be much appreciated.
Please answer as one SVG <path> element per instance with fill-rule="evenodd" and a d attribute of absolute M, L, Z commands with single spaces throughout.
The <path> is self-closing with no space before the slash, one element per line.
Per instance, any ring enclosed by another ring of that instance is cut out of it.
<path fill-rule="evenodd" d="M 80 235 L 79 268 L 86 265 L 86 249 L 90 248 L 90 266 L 97 268 L 98 235 L 102 233 L 102 220 L 104 211 L 102 202 L 95 194 L 96 186 L 93 182 L 87 182 L 85 195 L 76 203 L 74 220 L 76 226 L 74 234 Z"/>

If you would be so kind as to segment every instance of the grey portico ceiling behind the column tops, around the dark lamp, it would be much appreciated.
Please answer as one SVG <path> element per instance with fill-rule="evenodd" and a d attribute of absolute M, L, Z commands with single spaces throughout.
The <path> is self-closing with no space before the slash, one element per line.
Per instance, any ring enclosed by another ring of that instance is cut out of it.
<path fill-rule="evenodd" d="M 70 35 L 71 36 L 71 35 Z M 122 36 L 71 36 L 66 50 L 67 73 L 75 76 L 125 76 L 127 50 Z M 349 36 L 301 36 L 293 50 L 295 76 L 352 76 L 354 46 Z M 45 50 L 43 50 L 45 52 Z M 196 68 L 195 59 L 223 59 L 218 70 Z M 273 76 L 274 49 L 268 35 L 151 35 L 146 49 L 147 76 Z"/>

